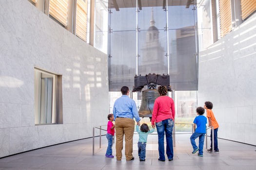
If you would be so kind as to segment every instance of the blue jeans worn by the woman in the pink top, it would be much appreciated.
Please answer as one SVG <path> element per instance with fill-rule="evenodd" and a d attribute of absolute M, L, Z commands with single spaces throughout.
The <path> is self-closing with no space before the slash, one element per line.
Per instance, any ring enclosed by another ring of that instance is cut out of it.
<path fill-rule="evenodd" d="M 156 123 L 158 131 L 159 159 L 165 160 L 164 156 L 164 132 L 166 136 L 166 154 L 168 159 L 173 159 L 173 120 L 165 119 Z"/>

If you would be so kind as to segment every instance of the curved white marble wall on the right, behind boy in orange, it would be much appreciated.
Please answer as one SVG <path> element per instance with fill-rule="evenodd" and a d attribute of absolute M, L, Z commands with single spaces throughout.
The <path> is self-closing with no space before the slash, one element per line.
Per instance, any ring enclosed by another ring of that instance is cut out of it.
<path fill-rule="evenodd" d="M 198 106 L 205 101 L 218 137 L 256 145 L 256 14 L 199 53 Z"/>

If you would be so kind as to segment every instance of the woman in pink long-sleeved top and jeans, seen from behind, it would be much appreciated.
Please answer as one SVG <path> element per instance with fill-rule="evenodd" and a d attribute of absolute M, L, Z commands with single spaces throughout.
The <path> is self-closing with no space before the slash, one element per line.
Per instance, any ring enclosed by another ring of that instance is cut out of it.
<path fill-rule="evenodd" d="M 164 156 L 164 132 L 166 135 L 166 154 L 169 161 L 173 160 L 173 126 L 175 118 L 174 101 L 167 95 L 167 87 L 158 87 L 159 97 L 154 103 L 151 123 L 157 126 L 159 161 L 165 161 Z"/>

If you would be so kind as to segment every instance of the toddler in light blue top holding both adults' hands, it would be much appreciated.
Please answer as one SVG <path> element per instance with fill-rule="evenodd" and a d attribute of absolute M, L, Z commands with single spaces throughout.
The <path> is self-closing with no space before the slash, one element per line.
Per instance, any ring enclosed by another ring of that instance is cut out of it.
<path fill-rule="evenodd" d="M 155 127 L 153 126 L 153 129 L 149 130 L 148 125 L 146 123 L 143 123 L 140 126 L 140 130 L 138 130 L 138 125 L 136 126 L 136 131 L 138 132 L 139 161 L 145 161 L 148 134 L 153 133 L 155 131 Z"/>

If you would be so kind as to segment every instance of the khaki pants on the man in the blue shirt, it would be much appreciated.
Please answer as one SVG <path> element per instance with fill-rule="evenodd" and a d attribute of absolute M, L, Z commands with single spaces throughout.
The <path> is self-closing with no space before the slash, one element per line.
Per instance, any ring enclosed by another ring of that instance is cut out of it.
<path fill-rule="evenodd" d="M 134 120 L 130 118 L 117 118 L 115 120 L 115 129 L 117 160 L 122 159 L 123 136 L 125 137 L 125 157 L 126 160 L 131 160 L 133 157 Z"/>

